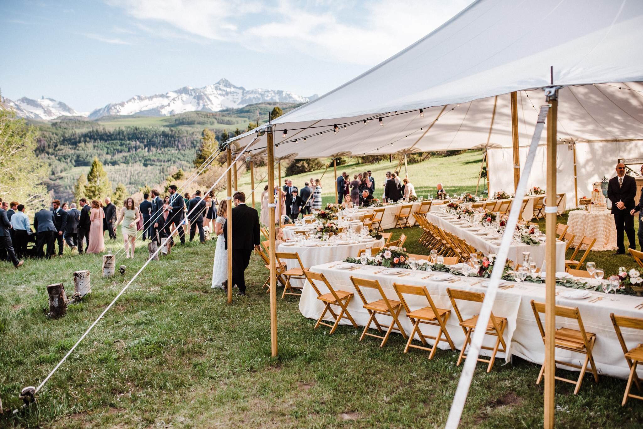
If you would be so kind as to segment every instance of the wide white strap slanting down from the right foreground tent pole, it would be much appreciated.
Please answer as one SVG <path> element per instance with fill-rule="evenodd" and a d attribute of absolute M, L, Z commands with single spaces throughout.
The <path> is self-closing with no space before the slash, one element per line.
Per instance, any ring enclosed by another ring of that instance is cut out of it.
<path fill-rule="evenodd" d="M 451 404 L 451 409 L 449 410 L 449 417 L 446 421 L 445 426 L 446 429 L 455 429 L 458 427 L 458 424 L 460 424 L 460 417 L 462 417 L 462 410 L 464 409 L 464 403 L 467 400 L 467 394 L 469 393 L 469 387 L 471 386 L 471 379 L 473 379 L 473 372 L 476 369 L 476 363 L 478 363 L 480 347 L 482 346 L 482 340 L 484 340 L 485 332 L 487 331 L 487 324 L 489 323 L 489 317 L 491 316 L 493 302 L 496 299 L 496 293 L 498 293 L 498 284 L 500 284 L 500 277 L 502 276 L 505 262 L 507 262 L 507 253 L 509 253 L 509 246 L 511 246 L 511 240 L 514 231 L 516 230 L 516 224 L 518 224 L 518 214 L 520 214 L 520 207 L 522 205 L 523 198 L 525 197 L 527 180 L 529 179 L 531 167 L 534 164 L 536 150 L 538 149 L 538 141 L 540 140 L 540 135 L 543 132 L 543 127 L 545 125 L 545 119 L 547 118 L 548 111 L 549 105 L 542 105 L 540 107 L 538 121 L 536 122 L 536 128 L 534 129 L 534 136 L 532 137 L 531 144 L 529 145 L 529 153 L 527 154 L 525 169 L 520 175 L 520 181 L 518 181 L 518 187 L 516 188 L 516 196 L 514 196 L 514 201 L 511 203 L 511 210 L 509 210 L 509 219 L 507 220 L 507 225 L 505 226 L 505 232 L 502 235 L 500 252 L 496 257 L 496 260 L 494 261 L 493 271 L 491 272 L 491 282 L 489 282 L 489 288 L 487 288 L 484 302 L 482 302 L 482 308 L 480 309 L 478 322 L 476 323 L 476 328 L 473 333 L 471 347 L 469 347 L 469 354 L 467 354 L 467 358 L 464 361 L 464 368 L 462 369 L 462 374 L 460 374 L 458 388 L 455 391 L 453 403 Z M 550 192 L 552 192 L 552 190 L 550 190 Z M 464 345 L 464 347 L 466 347 L 466 344 Z M 506 349 L 507 351 L 510 350 L 509 345 L 507 345 Z"/>

